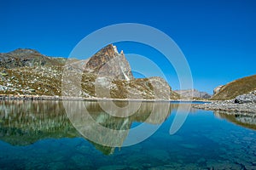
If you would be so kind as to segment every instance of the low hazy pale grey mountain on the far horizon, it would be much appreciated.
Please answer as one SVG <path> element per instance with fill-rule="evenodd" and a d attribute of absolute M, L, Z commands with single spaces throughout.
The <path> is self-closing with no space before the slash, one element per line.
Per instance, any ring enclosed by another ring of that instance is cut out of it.
<path fill-rule="evenodd" d="M 207 94 L 206 92 L 200 92 L 196 89 L 187 89 L 187 90 L 174 90 L 177 94 L 181 95 L 181 98 L 201 98 L 201 99 L 210 99 L 212 97 L 211 94 Z"/>

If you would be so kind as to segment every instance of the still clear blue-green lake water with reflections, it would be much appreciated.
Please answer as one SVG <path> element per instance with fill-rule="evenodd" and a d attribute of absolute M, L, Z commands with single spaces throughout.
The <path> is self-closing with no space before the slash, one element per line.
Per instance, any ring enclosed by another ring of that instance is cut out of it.
<path fill-rule="evenodd" d="M 104 115 L 102 126 L 129 129 L 147 120 L 155 104 L 145 102 L 128 122 L 106 116 L 95 102 L 86 105 L 95 120 Z M 167 116 L 158 108 L 147 120 L 164 121 L 148 139 L 112 148 L 84 139 L 61 102 L 1 101 L 0 169 L 256 169 L 255 117 L 192 109 L 183 127 L 170 135 L 178 105 L 186 104 L 169 105 Z"/>

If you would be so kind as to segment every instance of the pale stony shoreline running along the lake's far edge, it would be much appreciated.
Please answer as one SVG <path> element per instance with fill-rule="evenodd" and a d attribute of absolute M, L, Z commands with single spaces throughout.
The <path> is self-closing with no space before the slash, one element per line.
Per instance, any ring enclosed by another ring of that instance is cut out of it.
<path fill-rule="evenodd" d="M 205 111 L 221 111 L 232 115 L 256 115 L 255 104 L 235 104 L 234 99 L 231 100 L 194 100 L 194 99 L 110 99 L 110 98 L 82 98 L 67 96 L 47 96 L 47 95 L 13 95 L 0 94 L 0 101 L 3 100 L 55 100 L 55 101 L 130 101 L 130 102 L 189 102 L 195 109 Z M 201 104 L 193 104 L 193 102 L 201 102 Z"/>

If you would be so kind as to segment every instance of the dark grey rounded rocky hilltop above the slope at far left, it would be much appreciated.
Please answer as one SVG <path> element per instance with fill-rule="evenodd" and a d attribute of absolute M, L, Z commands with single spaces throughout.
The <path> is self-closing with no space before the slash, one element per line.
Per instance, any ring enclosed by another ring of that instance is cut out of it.
<path fill-rule="evenodd" d="M 12 69 L 23 66 L 64 65 L 66 60 L 45 56 L 34 49 L 18 48 L 12 52 L 0 54 L 0 67 Z"/>

